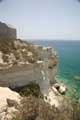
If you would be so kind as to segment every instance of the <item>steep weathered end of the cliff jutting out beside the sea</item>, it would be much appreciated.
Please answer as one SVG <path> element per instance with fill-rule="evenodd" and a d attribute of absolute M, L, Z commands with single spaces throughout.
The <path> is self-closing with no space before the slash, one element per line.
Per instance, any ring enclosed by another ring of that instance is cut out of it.
<path fill-rule="evenodd" d="M 57 57 L 56 51 L 51 47 L 36 46 L 36 51 L 44 61 L 44 72 L 49 79 L 50 83 L 55 82 L 57 73 Z"/>

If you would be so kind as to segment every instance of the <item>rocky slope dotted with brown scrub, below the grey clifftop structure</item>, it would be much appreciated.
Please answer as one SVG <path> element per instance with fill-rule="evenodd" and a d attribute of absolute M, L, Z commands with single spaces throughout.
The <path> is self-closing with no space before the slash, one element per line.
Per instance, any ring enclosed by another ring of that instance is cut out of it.
<path fill-rule="evenodd" d="M 0 37 L 0 53 L 3 64 L 17 64 L 19 62 L 34 63 L 40 59 L 35 47 L 20 39 L 8 39 Z"/>

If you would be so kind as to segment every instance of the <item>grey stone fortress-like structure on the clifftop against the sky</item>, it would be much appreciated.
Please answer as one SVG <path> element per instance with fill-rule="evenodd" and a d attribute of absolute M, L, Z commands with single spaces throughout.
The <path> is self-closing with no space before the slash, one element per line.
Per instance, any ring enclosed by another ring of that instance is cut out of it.
<path fill-rule="evenodd" d="M 16 28 L 12 25 L 0 22 L 0 38 L 16 39 Z"/>

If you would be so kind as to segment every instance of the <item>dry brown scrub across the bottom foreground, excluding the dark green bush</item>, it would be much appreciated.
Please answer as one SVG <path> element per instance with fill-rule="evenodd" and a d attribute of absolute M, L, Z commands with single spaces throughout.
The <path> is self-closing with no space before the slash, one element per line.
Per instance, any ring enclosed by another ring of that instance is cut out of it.
<path fill-rule="evenodd" d="M 19 112 L 13 120 L 80 120 L 80 103 L 67 101 L 58 109 L 41 98 L 28 96 L 21 101 Z"/>

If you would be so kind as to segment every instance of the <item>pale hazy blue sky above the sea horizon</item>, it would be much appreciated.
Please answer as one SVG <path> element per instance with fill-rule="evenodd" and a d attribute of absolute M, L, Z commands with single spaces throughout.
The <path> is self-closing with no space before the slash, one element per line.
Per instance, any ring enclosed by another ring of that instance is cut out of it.
<path fill-rule="evenodd" d="M 78 0 L 3 0 L 0 21 L 22 39 L 80 40 Z"/>

